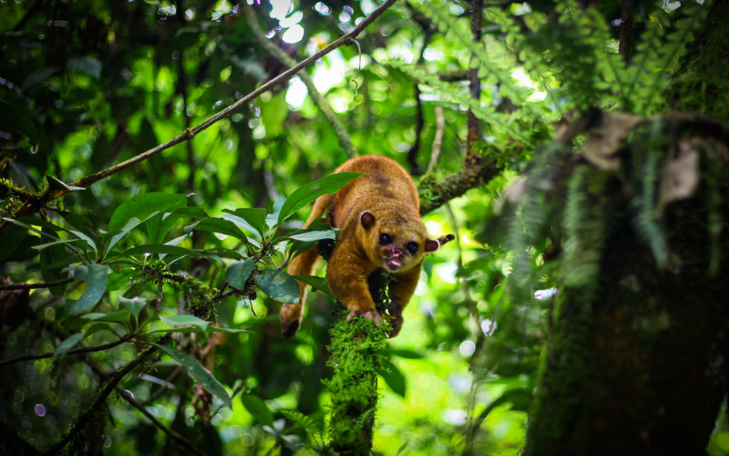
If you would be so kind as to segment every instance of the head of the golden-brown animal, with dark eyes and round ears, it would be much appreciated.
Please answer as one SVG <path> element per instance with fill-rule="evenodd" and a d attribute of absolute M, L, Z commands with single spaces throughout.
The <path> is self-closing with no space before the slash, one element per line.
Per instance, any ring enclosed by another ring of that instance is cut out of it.
<path fill-rule="evenodd" d="M 390 273 L 404 272 L 419 264 L 426 254 L 436 252 L 455 236 L 438 239 L 428 236 L 420 217 L 385 212 L 378 217 L 365 211 L 360 215 L 364 231 L 364 248 L 370 259 Z"/>

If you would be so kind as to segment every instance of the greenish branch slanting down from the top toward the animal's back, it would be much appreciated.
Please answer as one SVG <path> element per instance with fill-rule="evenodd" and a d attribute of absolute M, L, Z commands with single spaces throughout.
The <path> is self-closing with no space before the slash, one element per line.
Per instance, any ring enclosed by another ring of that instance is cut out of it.
<path fill-rule="evenodd" d="M 253 8 L 248 5 L 243 6 L 243 13 L 245 13 L 245 16 L 248 17 L 248 25 L 251 26 L 253 36 L 256 37 L 259 43 L 261 43 L 261 46 L 286 67 L 295 67 L 296 61 L 292 57 L 289 57 L 281 47 L 276 46 L 270 39 L 266 38 L 261 26 L 258 25 L 258 18 L 256 17 Z M 319 108 L 322 112 L 324 119 L 326 119 L 326 121 L 332 126 L 334 134 L 336 135 L 337 140 L 339 140 L 339 145 L 342 149 L 344 149 L 347 157 L 350 159 L 355 157 L 357 155 L 357 150 L 354 148 L 354 143 L 349 137 L 347 130 L 344 128 L 344 124 L 338 117 L 336 117 L 334 110 L 332 110 L 332 107 L 329 106 L 326 98 L 323 98 L 323 95 L 316 89 L 312 78 L 305 71 L 300 72 L 297 76 L 302 79 L 303 84 L 309 91 L 309 96 L 312 98 L 317 108 Z"/>

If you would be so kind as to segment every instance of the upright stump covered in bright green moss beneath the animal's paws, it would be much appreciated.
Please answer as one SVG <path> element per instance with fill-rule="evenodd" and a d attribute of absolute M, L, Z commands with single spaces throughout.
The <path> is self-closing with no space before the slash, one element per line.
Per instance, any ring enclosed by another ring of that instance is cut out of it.
<path fill-rule="evenodd" d="M 367 455 L 372 449 L 377 405 L 377 372 L 384 358 L 386 329 L 371 320 L 346 320 L 341 312 L 331 330 L 329 366 L 334 376 L 324 385 L 332 392 L 330 448 L 343 455 Z"/>

